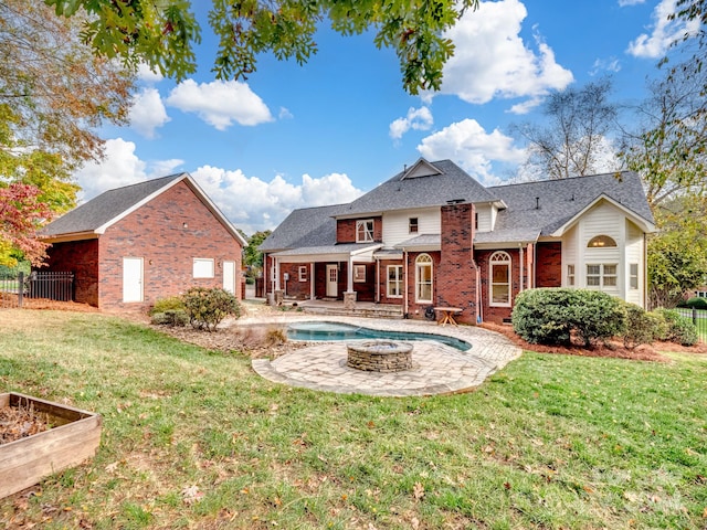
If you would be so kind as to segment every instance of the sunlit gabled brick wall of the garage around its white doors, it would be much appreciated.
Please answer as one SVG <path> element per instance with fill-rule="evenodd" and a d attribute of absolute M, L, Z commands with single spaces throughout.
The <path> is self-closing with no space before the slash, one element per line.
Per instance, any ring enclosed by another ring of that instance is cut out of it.
<path fill-rule="evenodd" d="M 241 245 L 179 182 L 106 230 L 99 241 L 102 308 L 154 304 L 192 286 L 222 287 L 223 262 L 235 262 L 235 296 L 241 296 Z M 141 257 L 144 303 L 123 304 L 123 258 Z M 193 277 L 193 258 L 214 261 L 213 278 Z"/>

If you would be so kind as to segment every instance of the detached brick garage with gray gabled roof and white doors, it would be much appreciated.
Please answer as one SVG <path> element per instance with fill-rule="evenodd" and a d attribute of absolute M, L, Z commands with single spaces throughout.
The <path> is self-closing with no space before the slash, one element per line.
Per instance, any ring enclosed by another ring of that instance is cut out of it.
<path fill-rule="evenodd" d="M 49 271 L 74 273 L 75 301 L 148 307 L 192 286 L 241 295 L 245 241 L 188 173 L 106 191 L 41 236 Z"/>

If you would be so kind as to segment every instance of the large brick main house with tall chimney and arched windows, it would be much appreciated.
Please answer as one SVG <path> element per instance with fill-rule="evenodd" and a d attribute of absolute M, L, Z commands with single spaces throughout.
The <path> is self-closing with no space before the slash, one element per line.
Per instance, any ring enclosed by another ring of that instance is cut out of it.
<path fill-rule="evenodd" d="M 349 204 L 295 210 L 263 242 L 268 293 L 461 309 L 502 321 L 531 287 L 601 289 L 645 307 L 645 235 L 633 172 L 483 187 L 450 160 L 418 160 Z M 432 312 L 431 312 L 432 311 Z"/>

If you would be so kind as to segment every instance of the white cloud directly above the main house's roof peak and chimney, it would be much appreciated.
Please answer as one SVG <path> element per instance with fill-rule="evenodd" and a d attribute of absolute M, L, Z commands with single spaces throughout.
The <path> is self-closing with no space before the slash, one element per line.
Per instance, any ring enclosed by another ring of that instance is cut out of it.
<path fill-rule="evenodd" d="M 475 119 L 464 119 L 428 136 L 418 146 L 428 160 L 451 159 L 486 184 L 495 183 L 492 162 L 520 163 L 524 149 L 514 147 L 513 138 L 498 129 L 488 134 Z"/>

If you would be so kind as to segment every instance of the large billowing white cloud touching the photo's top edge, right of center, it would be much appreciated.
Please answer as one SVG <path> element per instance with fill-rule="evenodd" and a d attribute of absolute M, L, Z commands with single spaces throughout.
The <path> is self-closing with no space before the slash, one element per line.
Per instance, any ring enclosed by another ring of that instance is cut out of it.
<path fill-rule="evenodd" d="M 482 2 L 447 33 L 456 46 L 444 66 L 442 93 L 484 104 L 494 97 L 537 97 L 562 89 L 572 73 L 555 61 L 539 36 L 537 51 L 520 38 L 528 12 L 519 0 Z"/>

